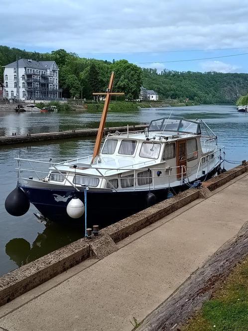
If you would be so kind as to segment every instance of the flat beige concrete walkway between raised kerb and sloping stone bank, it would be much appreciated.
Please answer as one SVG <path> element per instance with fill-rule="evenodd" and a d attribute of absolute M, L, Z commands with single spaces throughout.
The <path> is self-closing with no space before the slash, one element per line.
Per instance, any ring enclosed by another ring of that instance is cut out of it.
<path fill-rule="evenodd" d="M 0 330 L 132 330 L 248 220 L 248 174 L 0 307 Z"/>

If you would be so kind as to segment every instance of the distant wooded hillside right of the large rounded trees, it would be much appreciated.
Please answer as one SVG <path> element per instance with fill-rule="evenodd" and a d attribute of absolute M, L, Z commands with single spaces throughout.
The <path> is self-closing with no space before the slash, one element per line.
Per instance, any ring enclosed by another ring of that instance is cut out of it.
<path fill-rule="evenodd" d="M 165 98 L 189 98 L 196 103 L 235 103 L 248 92 L 248 74 L 178 72 L 143 69 L 143 86 Z"/>

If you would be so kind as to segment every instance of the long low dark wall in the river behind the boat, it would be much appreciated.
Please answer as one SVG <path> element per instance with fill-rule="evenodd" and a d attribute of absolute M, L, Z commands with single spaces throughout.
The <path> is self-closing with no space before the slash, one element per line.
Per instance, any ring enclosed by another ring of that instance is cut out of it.
<path fill-rule="evenodd" d="M 142 131 L 147 127 L 148 127 L 147 124 L 130 125 L 130 126 L 128 126 L 128 131 L 129 132 Z M 127 126 L 105 128 L 104 134 L 107 135 L 108 133 L 115 133 L 116 131 L 126 132 Z M 71 130 L 71 131 L 61 131 L 61 132 L 26 134 L 26 135 L 18 135 L 18 136 L 1 136 L 0 137 L 0 146 L 42 142 L 42 141 L 46 141 L 46 140 L 91 137 L 91 136 L 96 136 L 97 133 L 98 133 L 98 129 L 82 129 L 82 130 Z M 15 134 L 15 133 L 13 132 L 13 134 Z"/>

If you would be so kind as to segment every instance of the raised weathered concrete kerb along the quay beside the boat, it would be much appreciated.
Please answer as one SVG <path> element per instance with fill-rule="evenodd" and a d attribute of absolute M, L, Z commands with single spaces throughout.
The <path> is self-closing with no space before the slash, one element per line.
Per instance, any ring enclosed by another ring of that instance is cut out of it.
<path fill-rule="evenodd" d="M 95 239 L 79 239 L 1 276 L 0 306 L 90 257 L 104 258 L 117 250 L 115 243 L 198 198 L 208 197 L 210 191 L 245 173 L 247 167 L 247 165 L 239 165 L 205 182 L 207 188 L 183 191 L 102 229 L 100 236 Z"/>

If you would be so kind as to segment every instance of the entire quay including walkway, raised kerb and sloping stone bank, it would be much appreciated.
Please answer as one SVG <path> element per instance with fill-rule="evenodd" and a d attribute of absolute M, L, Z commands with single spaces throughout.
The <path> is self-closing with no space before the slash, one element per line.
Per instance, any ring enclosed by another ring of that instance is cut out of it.
<path fill-rule="evenodd" d="M 0 277 L 0 330 L 177 330 L 248 254 L 247 196 L 240 165 Z"/>

